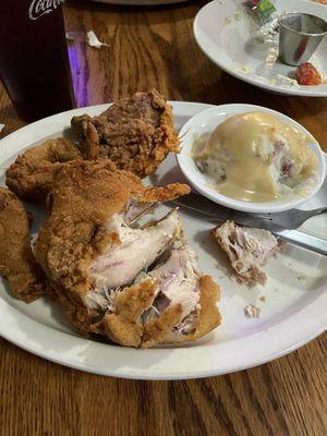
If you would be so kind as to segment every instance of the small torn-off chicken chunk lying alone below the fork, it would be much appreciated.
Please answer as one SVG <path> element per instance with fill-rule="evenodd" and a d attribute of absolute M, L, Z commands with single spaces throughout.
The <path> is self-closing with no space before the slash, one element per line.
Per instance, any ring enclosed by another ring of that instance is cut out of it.
<path fill-rule="evenodd" d="M 280 249 L 278 240 L 268 230 L 240 227 L 226 221 L 211 234 L 227 254 L 241 281 L 249 286 L 265 284 L 266 274 L 261 267 Z"/>

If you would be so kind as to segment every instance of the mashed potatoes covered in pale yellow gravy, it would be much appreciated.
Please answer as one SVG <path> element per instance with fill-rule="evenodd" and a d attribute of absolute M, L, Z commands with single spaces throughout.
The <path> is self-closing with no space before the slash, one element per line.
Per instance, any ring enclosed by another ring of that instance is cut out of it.
<path fill-rule="evenodd" d="M 193 158 L 221 194 L 245 202 L 269 202 L 300 193 L 315 180 L 317 158 L 305 133 L 266 112 L 233 116 L 195 144 Z"/>

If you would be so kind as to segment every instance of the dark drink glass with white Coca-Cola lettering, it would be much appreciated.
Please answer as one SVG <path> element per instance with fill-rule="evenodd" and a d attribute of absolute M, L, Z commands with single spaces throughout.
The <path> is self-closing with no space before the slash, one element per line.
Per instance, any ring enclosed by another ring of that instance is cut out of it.
<path fill-rule="evenodd" d="M 25 121 L 74 107 L 62 2 L 1 1 L 0 77 Z"/>

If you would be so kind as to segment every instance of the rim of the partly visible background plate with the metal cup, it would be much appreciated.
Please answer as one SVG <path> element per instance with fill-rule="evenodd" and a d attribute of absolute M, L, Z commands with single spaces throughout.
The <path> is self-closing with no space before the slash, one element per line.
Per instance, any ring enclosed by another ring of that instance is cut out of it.
<path fill-rule="evenodd" d="M 322 8 L 326 8 L 326 5 L 324 4 L 319 4 L 319 3 L 315 3 L 312 0 L 299 0 L 300 2 L 306 3 L 306 4 L 314 4 L 313 8 L 317 7 L 318 9 Z M 219 2 L 218 2 L 219 3 Z M 276 85 L 270 85 L 269 83 L 264 83 L 261 82 L 258 80 L 252 78 L 251 76 L 247 76 L 246 74 L 243 74 L 240 71 L 234 71 L 233 69 L 230 69 L 228 66 L 226 66 L 223 63 L 219 62 L 219 60 L 215 59 L 209 52 L 208 50 L 206 50 L 206 48 L 204 47 L 204 45 L 201 43 L 201 37 L 198 35 L 198 22 L 201 20 L 201 14 L 204 12 L 204 10 L 206 9 L 210 9 L 211 7 L 214 7 L 215 4 L 217 4 L 217 0 L 213 0 L 209 3 L 205 4 L 195 15 L 194 22 L 193 22 L 193 35 L 195 38 L 195 41 L 198 46 L 198 48 L 202 50 L 202 52 L 208 58 L 210 59 L 210 61 L 213 63 L 215 63 L 215 65 L 219 66 L 222 71 L 225 71 L 226 73 L 232 75 L 233 77 L 245 82 L 252 86 L 256 86 L 261 89 L 265 89 L 268 92 L 271 92 L 274 94 L 279 94 L 279 95 L 286 95 L 286 96 L 301 96 L 301 97 L 327 97 L 327 90 L 305 90 L 305 89 L 298 89 L 298 88 L 283 88 L 283 87 L 279 87 Z M 223 3 L 219 3 L 219 5 L 223 5 Z M 322 9 L 323 10 L 323 9 Z"/>

